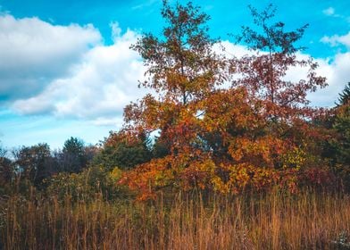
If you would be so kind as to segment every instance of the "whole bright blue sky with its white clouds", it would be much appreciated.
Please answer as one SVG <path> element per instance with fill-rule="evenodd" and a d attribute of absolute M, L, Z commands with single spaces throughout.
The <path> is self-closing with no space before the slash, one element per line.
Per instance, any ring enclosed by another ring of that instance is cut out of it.
<path fill-rule="evenodd" d="M 350 81 L 349 0 L 193 3 L 231 54 L 246 53 L 229 34 L 252 25 L 248 4 L 274 4 L 274 21 L 287 30 L 308 23 L 298 56 L 312 56 L 329 84 L 309 95 L 312 106 L 333 106 Z M 137 87 L 145 67 L 129 46 L 143 32 L 161 34 L 161 7 L 161 0 L 0 0 L 0 145 L 56 149 L 69 137 L 96 144 L 120 129 L 123 107 L 147 92 Z"/>

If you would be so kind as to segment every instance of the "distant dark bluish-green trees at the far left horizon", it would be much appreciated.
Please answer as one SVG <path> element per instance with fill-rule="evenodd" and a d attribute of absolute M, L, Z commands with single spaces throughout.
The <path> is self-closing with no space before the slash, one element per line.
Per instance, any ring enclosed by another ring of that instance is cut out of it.
<path fill-rule="evenodd" d="M 44 180 L 55 174 L 78 173 L 87 168 L 98 148 L 85 146 L 79 138 L 71 137 L 65 141 L 62 150 L 52 151 L 46 143 L 39 143 L 12 150 L 1 148 L 0 151 L 2 188 L 12 189 L 16 185 L 20 187 L 22 182 L 28 182 L 33 187 L 43 189 Z"/>

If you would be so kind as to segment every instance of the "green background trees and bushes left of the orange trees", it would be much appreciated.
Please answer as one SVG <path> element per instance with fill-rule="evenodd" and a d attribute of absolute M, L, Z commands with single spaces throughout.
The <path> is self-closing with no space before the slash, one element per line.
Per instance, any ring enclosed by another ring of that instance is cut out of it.
<path fill-rule="evenodd" d="M 93 199 L 95 192 L 116 191 L 113 188 L 118 186 L 121 171 L 167 154 L 164 146 L 153 143 L 154 138 L 130 141 L 121 134 L 111 132 L 96 146 L 71 137 L 57 150 L 46 143 L 11 150 L 0 147 L 0 196 L 29 195 L 30 188 L 35 188 L 43 194 L 52 192 L 47 195 Z M 82 194 L 84 190 L 86 194 Z M 125 194 L 108 194 L 120 195 Z"/>

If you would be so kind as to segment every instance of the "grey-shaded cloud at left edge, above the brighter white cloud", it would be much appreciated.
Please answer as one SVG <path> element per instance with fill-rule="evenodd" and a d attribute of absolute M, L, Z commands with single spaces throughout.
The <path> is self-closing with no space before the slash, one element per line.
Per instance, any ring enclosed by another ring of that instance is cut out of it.
<path fill-rule="evenodd" d="M 36 17 L 0 15 L 0 100 L 35 96 L 67 75 L 102 40 L 92 25 L 52 25 Z"/>

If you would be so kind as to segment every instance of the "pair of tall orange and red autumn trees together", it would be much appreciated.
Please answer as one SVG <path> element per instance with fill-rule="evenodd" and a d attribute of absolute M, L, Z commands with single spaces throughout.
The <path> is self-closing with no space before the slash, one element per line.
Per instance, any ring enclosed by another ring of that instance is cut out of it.
<path fill-rule="evenodd" d="M 140 199 L 165 187 L 238 193 L 277 185 L 296 192 L 306 172 L 321 171 L 311 162 L 322 134 L 310 122 L 321 111 L 307 106 L 306 94 L 326 84 L 312 58 L 296 55 L 306 26 L 287 32 L 282 22 L 270 24 L 272 6 L 250 10 L 262 33 L 243 27 L 237 42 L 251 53 L 241 58 L 214 50 L 209 16 L 191 3 L 164 1 L 162 37 L 145 34 L 132 46 L 147 68 L 141 85 L 156 94 L 125 108 L 124 131 L 156 132 L 156 143 L 168 148 L 121 179 Z M 306 67 L 305 79 L 287 80 L 292 67 Z"/>

